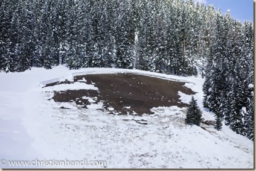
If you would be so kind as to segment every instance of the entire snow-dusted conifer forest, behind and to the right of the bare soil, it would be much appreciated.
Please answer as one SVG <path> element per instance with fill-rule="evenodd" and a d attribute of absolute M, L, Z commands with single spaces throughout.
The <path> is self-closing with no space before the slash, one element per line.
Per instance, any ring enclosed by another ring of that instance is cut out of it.
<path fill-rule="evenodd" d="M 193 0 L 0 1 L 0 70 L 118 67 L 205 78 L 204 106 L 253 139 L 254 28 Z"/>

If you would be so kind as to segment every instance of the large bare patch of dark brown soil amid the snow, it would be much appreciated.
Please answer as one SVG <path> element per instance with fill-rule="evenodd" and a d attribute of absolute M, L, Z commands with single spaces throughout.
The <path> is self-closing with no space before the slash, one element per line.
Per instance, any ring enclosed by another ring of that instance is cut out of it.
<path fill-rule="evenodd" d="M 83 96 L 94 98 L 97 102 L 104 103 L 104 109 L 114 108 L 119 114 L 153 114 L 153 107 L 187 107 L 182 103 L 178 92 L 193 95 L 194 92 L 184 86 L 185 82 L 170 81 L 144 75 L 130 73 L 100 74 L 75 76 L 74 82 L 86 79 L 86 84 L 94 84 L 95 90 L 68 90 L 66 92 L 54 92 L 54 101 L 72 102 L 78 106 L 89 105 L 88 99 Z M 72 82 L 54 82 L 46 86 L 56 84 L 72 84 Z M 97 97 L 97 98 L 96 98 Z M 113 113 L 109 111 L 109 113 Z"/>

